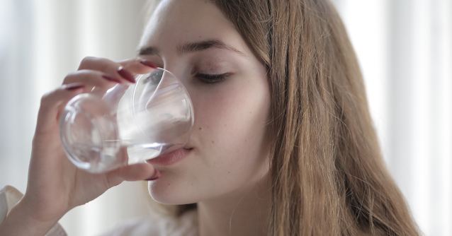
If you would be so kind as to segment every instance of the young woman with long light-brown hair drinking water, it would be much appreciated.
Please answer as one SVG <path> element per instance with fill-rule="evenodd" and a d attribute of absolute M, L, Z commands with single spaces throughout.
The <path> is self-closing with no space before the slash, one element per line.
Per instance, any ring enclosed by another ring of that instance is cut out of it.
<path fill-rule="evenodd" d="M 60 146 L 62 107 L 156 64 L 191 95 L 186 147 L 151 165 L 77 170 Z M 327 0 L 162 1 L 137 59 L 86 58 L 63 84 L 43 97 L 26 194 L 0 235 L 45 235 L 69 209 L 141 179 L 153 199 L 179 205 L 165 222 L 179 235 L 419 235 L 381 158 L 358 62 Z M 142 221 L 121 232 L 169 231 Z"/>

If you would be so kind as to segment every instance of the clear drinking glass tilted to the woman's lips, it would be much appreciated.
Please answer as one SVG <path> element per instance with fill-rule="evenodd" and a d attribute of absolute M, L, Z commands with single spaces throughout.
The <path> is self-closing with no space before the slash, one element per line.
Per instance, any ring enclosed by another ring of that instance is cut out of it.
<path fill-rule="evenodd" d="M 165 69 L 136 83 L 77 95 L 60 117 L 64 152 L 77 167 L 106 172 L 177 151 L 193 129 L 193 105 L 181 81 Z"/>

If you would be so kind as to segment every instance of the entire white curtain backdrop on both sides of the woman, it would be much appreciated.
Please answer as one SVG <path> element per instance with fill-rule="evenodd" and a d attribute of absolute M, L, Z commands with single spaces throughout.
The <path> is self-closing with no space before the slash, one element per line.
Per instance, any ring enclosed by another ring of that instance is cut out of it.
<path fill-rule="evenodd" d="M 86 56 L 133 57 L 146 0 L 0 0 L 0 187 L 26 189 L 40 97 Z M 333 0 L 385 160 L 426 235 L 452 235 L 452 0 Z M 70 211 L 69 235 L 147 214 L 144 183 Z"/>

